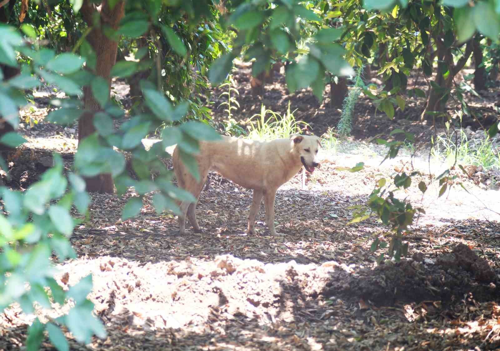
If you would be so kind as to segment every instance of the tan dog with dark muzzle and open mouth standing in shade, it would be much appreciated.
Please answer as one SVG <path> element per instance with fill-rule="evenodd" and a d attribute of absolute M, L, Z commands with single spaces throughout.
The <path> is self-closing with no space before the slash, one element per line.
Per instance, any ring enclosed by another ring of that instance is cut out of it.
<path fill-rule="evenodd" d="M 263 197 L 265 222 L 271 235 L 276 235 L 274 227 L 276 190 L 293 177 L 302 166 L 308 172 L 314 171 L 314 168 L 318 166 L 319 146 L 321 142 L 318 137 L 298 134 L 290 136 L 289 139 L 267 142 L 222 136 L 220 141 L 199 143 L 200 152 L 196 156 L 201 176 L 199 182 L 196 182 L 180 162 L 177 147 L 172 155 L 173 170 L 177 178 L 177 186 L 193 194 L 196 201 L 210 169 L 242 187 L 253 189 L 253 201 L 248 215 L 248 233 L 254 232 L 255 216 Z M 180 234 L 185 234 L 186 214 L 194 231 L 201 231 L 195 210 L 196 202 L 182 201 L 180 203 Z"/>

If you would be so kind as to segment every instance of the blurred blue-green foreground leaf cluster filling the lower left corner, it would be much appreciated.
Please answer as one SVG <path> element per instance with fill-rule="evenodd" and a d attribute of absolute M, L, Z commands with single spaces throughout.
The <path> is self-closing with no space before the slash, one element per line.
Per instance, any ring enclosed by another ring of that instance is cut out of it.
<path fill-rule="evenodd" d="M 16 140 L 13 136 L 7 139 Z M 9 273 L 0 278 L 0 309 L 17 302 L 24 313 L 31 314 L 35 303 L 48 309 L 52 301 L 64 305 L 72 299 L 74 304 L 67 315 L 53 322 L 42 324 L 35 319 L 28 328 L 27 350 L 38 349 L 46 330 L 50 342 L 58 350 L 67 351 L 69 345 L 60 330 L 62 325 L 83 342 L 89 342 L 94 334 L 105 335 L 102 323 L 92 314 L 93 304 L 86 298 L 92 288 L 91 276 L 81 279 L 67 292 L 53 278 L 52 252 L 61 261 L 75 257 L 67 239 L 76 223 L 69 212 L 71 206 L 74 204 L 84 213 L 88 205 L 88 200 L 82 201 L 82 197 L 88 197 L 84 181 L 68 174 L 68 182 L 62 170 L 62 159 L 56 154 L 54 166 L 24 193 L 0 188 L 5 209 L 9 211 L 8 216 L 0 214 L 0 268 L 2 276 Z"/>

